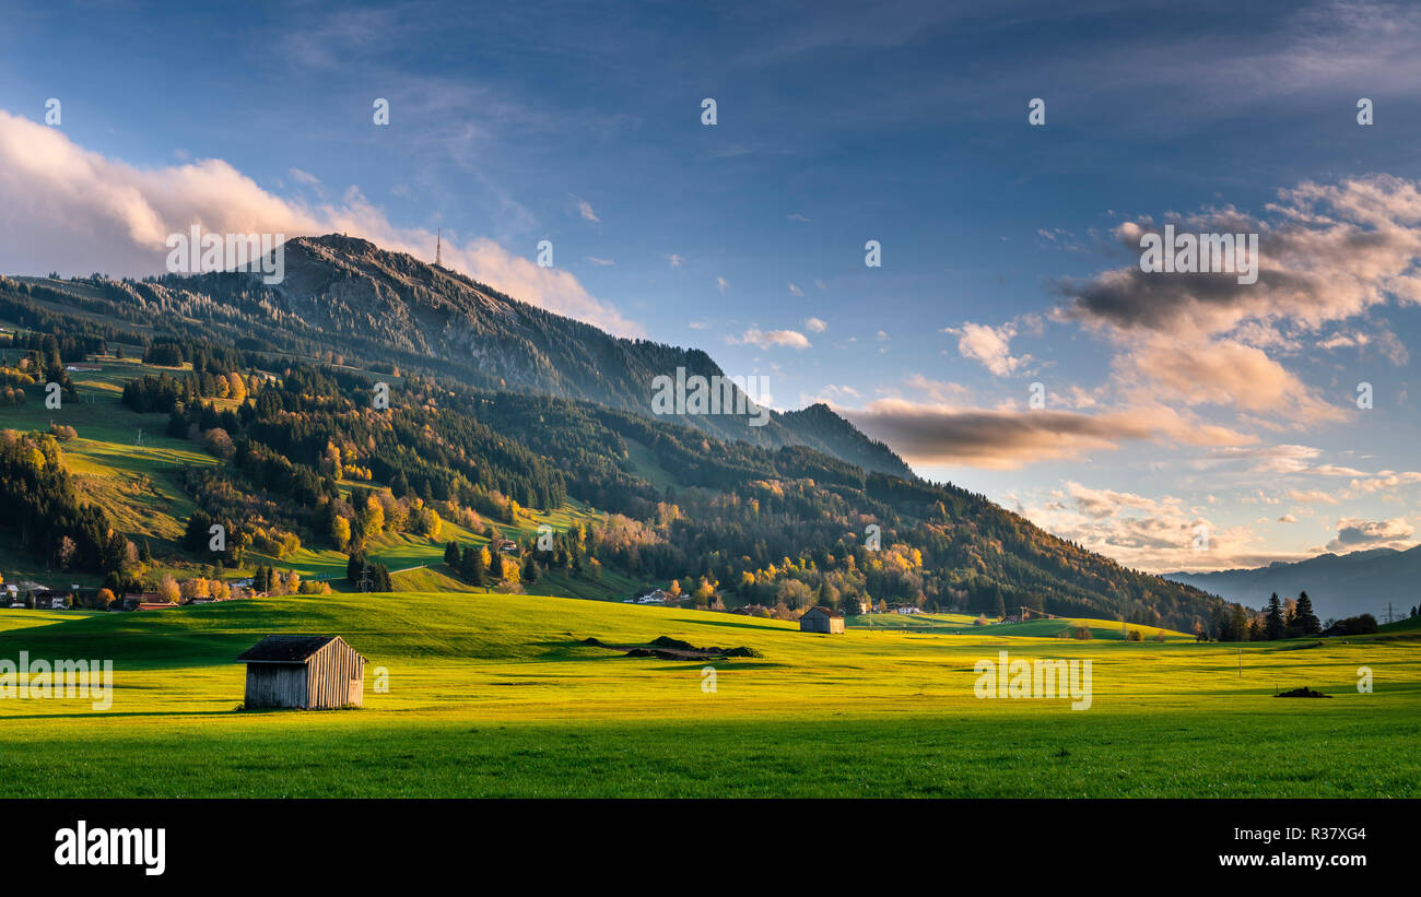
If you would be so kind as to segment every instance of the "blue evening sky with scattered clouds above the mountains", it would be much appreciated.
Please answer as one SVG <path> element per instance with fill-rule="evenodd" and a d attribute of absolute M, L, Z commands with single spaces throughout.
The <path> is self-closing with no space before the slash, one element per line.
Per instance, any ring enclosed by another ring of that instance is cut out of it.
<path fill-rule="evenodd" d="M 1418 84 L 1411 4 L 0 1 L 0 271 L 442 230 L 1130 566 L 1410 548 Z"/>

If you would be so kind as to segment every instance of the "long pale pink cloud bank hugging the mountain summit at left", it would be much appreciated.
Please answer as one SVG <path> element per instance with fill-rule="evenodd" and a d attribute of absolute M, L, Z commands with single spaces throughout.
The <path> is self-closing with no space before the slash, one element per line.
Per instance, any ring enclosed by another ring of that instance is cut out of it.
<path fill-rule="evenodd" d="M 308 204 L 263 190 L 222 159 L 138 169 L 77 146 L 63 132 L 0 111 L 0 270 L 145 277 L 165 271 L 168 234 L 286 237 L 345 233 L 425 258 L 435 234 L 398 227 L 358 189 Z M 567 271 L 541 268 L 493 240 L 445 231 L 450 270 L 514 298 L 625 336 L 641 326 L 593 297 Z"/>

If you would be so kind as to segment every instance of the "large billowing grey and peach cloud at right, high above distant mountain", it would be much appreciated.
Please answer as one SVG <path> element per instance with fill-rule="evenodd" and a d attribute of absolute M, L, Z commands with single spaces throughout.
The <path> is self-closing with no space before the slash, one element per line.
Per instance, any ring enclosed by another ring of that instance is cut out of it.
<path fill-rule="evenodd" d="M 1168 220 L 1177 234 L 1258 234 L 1258 281 L 1141 271 L 1140 240 L 1161 226 L 1120 224 L 1114 238 L 1131 264 L 1063 281 L 1066 302 L 1052 317 L 1117 346 L 1114 383 L 1127 399 L 1215 405 L 1256 426 L 1297 429 L 1346 420 L 1354 409 L 1324 397 L 1280 356 L 1367 348 L 1407 362 L 1384 324 L 1366 322 L 1387 302 L 1421 304 L 1418 182 L 1391 175 L 1303 182 L 1279 190 L 1262 216 L 1222 206 Z M 1349 319 L 1364 325 L 1334 326 Z M 1003 346 L 980 342 L 979 355 L 1009 358 Z"/>

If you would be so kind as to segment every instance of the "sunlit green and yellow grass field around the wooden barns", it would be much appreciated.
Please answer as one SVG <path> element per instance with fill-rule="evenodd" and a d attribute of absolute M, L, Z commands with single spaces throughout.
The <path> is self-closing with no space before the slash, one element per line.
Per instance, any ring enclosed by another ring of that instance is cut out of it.
<path fill-rule="evenodd" d="M 1100 623 L 1104 627 L 1111 623 Z M 1414 630 L 1269 644 L 791 623 L 541 596 L 281 598 L 0 615 L 0 657 L 112 659 L 108 711 L 0 700 L 4 796 L 1415 796 Z M 344 636 L 365 708 L 246 712 L 233 659 Z M 580 644 L 749 646 L 630 659 Z M 979 659 L 1090 660 L 1093 705 L 979 700 Z M 1242 654 L 1241 654 L 1242 650 Z M 1376 676 L 1358 694 L 1357 668 Z M 1242 676 L 1239 668 L 1242 667 Z M 379 668 L 379 670 L 377 670 Z M 375 688 L 388 674 L 388 693 Z M 1334 697 L 1280 700 L 1310 686 Z"/>

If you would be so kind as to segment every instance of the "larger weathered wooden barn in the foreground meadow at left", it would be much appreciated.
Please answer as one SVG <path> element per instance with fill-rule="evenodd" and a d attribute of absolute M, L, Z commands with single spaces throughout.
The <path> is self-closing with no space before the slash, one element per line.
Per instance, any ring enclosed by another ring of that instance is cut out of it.
<path fill-rule="evenodd" d="M 247 664 L 247 710 L 334 710 L 365 701 L 365 659 L 340 636 L 267 636 L 237 661 Z"/>

